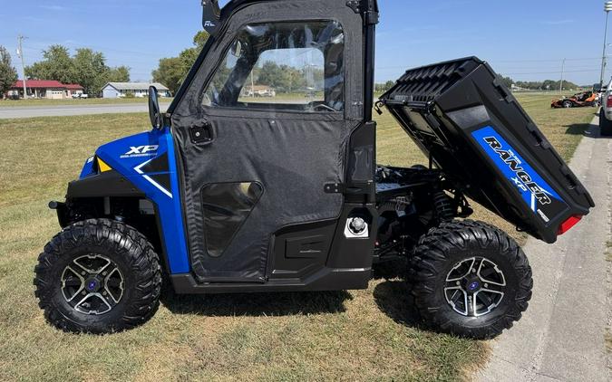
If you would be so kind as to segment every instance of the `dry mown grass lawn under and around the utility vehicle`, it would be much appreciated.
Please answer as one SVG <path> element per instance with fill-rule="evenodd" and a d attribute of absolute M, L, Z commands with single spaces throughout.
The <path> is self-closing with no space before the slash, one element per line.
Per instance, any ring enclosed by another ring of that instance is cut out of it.
<path fill-rule="evenodd" d="M 569 158 L 595 110 L 522 101 Z M 378 121 L 380 163 L 423 162 L 388 114 Z M 487 358 L 486 343 L 418 329 L 399 280 L 367 291 L 180 297 L 141 328 L 109 336 L 47 325 L 32 285 L 36 257 L 59 230 L 46 203 L 62 199 L 95 148 L 147 126 L 145 114 L 0 119 L 0 380 L 456 380 Z"/>

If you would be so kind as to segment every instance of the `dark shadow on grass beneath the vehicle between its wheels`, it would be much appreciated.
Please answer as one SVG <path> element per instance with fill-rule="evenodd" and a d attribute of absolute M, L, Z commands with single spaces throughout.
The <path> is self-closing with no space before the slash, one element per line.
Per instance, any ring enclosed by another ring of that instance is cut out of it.
<path fill-rule="evenodd" d="M 347 291 L 209 295 L 166 293 L 161 302 L 175 314 L 258 317 L 338 313 L 345 311 L 345 301 L 352 299 L 353 296 Z"/>

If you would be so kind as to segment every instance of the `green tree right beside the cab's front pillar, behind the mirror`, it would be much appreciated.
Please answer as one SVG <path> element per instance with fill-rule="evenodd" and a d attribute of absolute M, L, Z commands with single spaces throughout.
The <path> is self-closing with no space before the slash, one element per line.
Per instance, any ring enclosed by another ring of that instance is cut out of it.
<path fill-rule="evenodd" d="M 158 68 L 151 73 L 153 81 L 166 85 L 172 93 L 178 91 L 208 40 L 209 33 L 200 31 L 193 36 L 193 47 L 185 49 L 178 57 L 160 59 Z"/>

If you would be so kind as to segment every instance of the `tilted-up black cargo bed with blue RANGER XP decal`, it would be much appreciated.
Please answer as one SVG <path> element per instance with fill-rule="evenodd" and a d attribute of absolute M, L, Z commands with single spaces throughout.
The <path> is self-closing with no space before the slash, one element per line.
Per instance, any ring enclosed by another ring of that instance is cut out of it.
<path fill-rule="evenodd" d="M 406 72 L 380 98 L 463 192 L 553 243 L 595 206 L 491 67 L 475 57 Z"/>

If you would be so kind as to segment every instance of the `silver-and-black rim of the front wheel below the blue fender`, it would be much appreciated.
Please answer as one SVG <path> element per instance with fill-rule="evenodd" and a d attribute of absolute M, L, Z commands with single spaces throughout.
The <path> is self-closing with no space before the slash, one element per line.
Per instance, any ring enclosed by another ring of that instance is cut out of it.
<path fill-rule="evenodd" d="M 104 314 L 123 296 L 123 275 L 116 263 L 101 254 L 77 257 L 62 272 L 63 298 L 84 314 Z"/>

